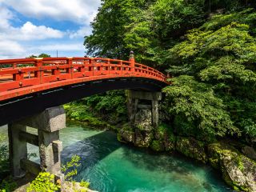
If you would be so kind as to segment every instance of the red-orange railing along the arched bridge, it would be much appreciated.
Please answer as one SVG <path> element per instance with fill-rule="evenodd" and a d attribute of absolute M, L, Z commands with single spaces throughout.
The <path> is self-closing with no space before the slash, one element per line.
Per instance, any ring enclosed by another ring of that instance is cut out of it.
<path fill-rule="evenodd" d="M 166 82 L 166 76 L 149 66 L 110 58 L 22 58 L 0 60 L 0 96 L 4 92 L 50 83 L 61 86 L 93 79 L 142 77 Z M 17 91 L 16 91 L 17 92 Z M 2 98 L 0 98 L 0 101 Z"/>

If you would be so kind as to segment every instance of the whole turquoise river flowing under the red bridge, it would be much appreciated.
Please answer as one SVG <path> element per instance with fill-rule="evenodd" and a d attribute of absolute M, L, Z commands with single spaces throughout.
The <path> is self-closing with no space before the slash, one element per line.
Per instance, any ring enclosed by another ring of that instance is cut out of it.
<path fill-rule="evenodd" d="M 82 157 L 76 180 L 102 192 L 231 191 L 209 166 L 123 145 L 110 131 L 74 126 L 61 131 L 62 159 Z"/>

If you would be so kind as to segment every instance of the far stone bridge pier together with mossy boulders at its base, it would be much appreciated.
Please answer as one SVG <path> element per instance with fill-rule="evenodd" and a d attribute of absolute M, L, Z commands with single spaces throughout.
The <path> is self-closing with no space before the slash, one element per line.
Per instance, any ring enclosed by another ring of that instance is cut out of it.
<path fill-rule="evenodd" d="M 161 99 L 161 92 L 129 90 L 127 108 L 130 125 L 118 130 L 118 140 L 149 147 L 158 127 L 158 102 Z"/>

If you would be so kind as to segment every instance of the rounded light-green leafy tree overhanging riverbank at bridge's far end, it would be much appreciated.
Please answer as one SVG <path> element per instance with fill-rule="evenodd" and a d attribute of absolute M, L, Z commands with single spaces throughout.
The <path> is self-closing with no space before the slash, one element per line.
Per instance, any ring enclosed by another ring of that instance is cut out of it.
<path fill-rule="evenodd" d="M 172 82 L 173 86 L 163 90 L 166 93 L 163 107 L 174 116 L 174 127 L 179 134 L 196 135 L 204 140 L 239 133 L 210 85 L 186 75 Z"/>

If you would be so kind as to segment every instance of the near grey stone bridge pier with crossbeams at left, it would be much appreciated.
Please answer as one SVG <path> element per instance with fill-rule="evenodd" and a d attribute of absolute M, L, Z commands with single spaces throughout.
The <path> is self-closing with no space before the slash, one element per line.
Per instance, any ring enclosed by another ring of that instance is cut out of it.
<path fill-rule="evenodd" d="M 32 134 L 27 126 L 37 129 Z M 66 127 L 65 110 L 58 106 L 46 109 L 41 114 L 8 125 L 10 165 L 14 178 L 22 178 L 26 172 L 37 175 L 46 170 L 63 180 L 61 173 L 62 142 L 59 130 Z M 40 165 L 27 156 L 27 143 L 38 146 Z"/>

